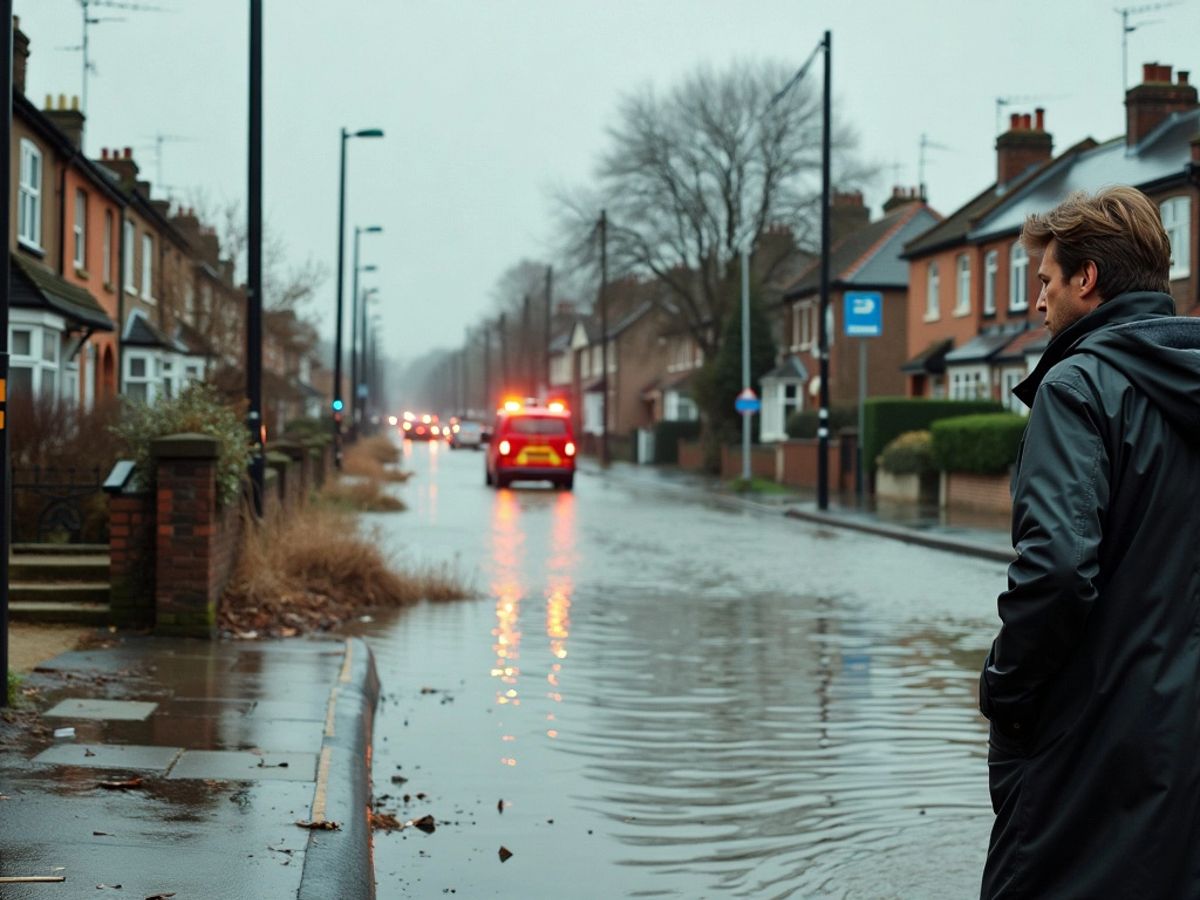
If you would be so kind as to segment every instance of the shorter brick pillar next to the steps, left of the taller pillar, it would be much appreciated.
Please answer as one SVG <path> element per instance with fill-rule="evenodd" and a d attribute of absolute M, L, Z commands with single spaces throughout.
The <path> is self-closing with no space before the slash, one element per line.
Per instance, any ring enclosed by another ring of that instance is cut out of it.
<path fill-rule="evenodd" d="M 109 610 L 119 628 L 154 625 L 155 504 L 150 491 L 108 497 Z"/>

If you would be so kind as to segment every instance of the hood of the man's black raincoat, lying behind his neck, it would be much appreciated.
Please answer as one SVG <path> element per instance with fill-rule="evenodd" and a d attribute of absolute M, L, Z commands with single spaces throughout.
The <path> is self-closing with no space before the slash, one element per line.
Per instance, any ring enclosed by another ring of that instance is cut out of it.
<path fill-rule="evenodd" d="M 1063 359 L 1087 353 L 1126 376 L 1175 428 L 1200 443 L 1200 319 L 1175 316 L 1169 294 L 1121 294 L 1066 329 L 1014 394 L 1026 404 Z"/>

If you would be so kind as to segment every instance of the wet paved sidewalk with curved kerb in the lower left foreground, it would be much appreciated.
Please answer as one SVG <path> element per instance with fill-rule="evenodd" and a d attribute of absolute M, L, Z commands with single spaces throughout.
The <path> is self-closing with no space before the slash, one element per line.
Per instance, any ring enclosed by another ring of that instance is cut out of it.
<path fill-rule="evenodd" d="M 374 895 L 362 641 L 113 642 L 38 666 L 38 714 L 0 721 L 0 896 Z M 65 881 L 2 882 L 26 876 Z"/>

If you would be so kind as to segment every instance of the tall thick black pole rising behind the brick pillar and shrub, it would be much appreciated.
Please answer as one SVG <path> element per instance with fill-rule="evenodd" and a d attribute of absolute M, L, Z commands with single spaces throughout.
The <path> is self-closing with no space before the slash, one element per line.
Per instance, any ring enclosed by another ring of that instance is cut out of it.
<path fill-rule="evenodd" d="M 250 160 L 246 223 L 246 400 L 254 515 L 263 515 L 263 0 L 250 0 Z"/>

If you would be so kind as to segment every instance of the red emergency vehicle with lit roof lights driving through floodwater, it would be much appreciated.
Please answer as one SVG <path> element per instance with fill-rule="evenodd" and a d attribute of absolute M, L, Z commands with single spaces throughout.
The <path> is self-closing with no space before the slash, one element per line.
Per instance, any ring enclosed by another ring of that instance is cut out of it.
<path fill-rule="evenodd" d="M 575 434 L 562 403 L 527 407 L 509 401 L 496 416 L 487 446 L 485 480 L 496 487 L 514 481 L 550 481 L 575 486 Z"/>

